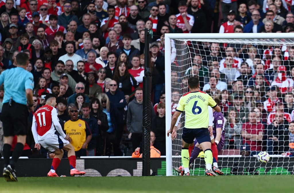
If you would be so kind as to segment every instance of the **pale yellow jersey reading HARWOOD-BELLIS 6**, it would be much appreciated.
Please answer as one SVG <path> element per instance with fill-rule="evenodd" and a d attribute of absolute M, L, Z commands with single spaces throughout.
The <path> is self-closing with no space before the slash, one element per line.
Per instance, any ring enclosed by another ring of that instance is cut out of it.
<path fill-rule="evenodd" d="M 214 108 L 217 104 L 207 93 L 188 92 L 181 97 L 176 111 L 185 111 L 185 128 L 208 128 L 208 106 Z"/>

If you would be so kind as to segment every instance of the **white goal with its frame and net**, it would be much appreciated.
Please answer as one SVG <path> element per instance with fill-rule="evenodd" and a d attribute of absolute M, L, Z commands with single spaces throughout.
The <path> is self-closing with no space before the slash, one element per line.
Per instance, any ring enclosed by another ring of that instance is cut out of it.
<path fill-rule="evenodd" d="M 293 38 L 292 33 L 165 34 L 166 131 L 189 91 L 188 78 L 198 76 L 200 90 L 220 99 L 224 116 L 218 167 L 227 175 L 233 168 L 238 174 L 293 174 Z M 174 168 L 182 165 L 181 116 L 177 139 L 166 138 L 168 176 L 180 175 Z M 260 151 L 270 155 L 266 164 L 257 160 Z M 205 174 L 201 153 L 191 174 Z"/>

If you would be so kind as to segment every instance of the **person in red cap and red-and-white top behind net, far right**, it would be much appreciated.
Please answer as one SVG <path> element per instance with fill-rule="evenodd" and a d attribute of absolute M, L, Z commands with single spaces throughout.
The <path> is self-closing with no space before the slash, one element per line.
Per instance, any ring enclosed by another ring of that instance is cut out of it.
<path fill-rule="evenodd" d="M 286 77 L 286 71 L 285 66 L 279 66 L 278 77 L 270 84 L 270 86 L 278 86 L 282 94 L 288 92 L 294 86 L 294 81 Z"/>

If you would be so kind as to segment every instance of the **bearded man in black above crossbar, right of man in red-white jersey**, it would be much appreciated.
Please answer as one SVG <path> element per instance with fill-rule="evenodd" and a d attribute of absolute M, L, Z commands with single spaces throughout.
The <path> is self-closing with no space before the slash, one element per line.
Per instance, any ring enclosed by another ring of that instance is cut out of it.
<path fill-rule="evenodd" d="M 192 0 L 187 12 L 195 19 L 191 33 L 205 33 L 207 31 L 206 15 L 204 10 L 199 8 L 199 1 Z"/>

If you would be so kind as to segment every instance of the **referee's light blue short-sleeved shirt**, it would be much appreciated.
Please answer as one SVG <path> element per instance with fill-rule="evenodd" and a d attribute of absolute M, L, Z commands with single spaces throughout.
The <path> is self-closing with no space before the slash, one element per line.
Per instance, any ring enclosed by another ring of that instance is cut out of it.
<path fill-rule="evenodd" d="M 21 67 L 4 70 L 0 74 L 0 85 L 4 83 L 4 98 L 2 103 L 14 102 L 26 105 L 26 89 L 34 89 L 34 76 Z"/>

